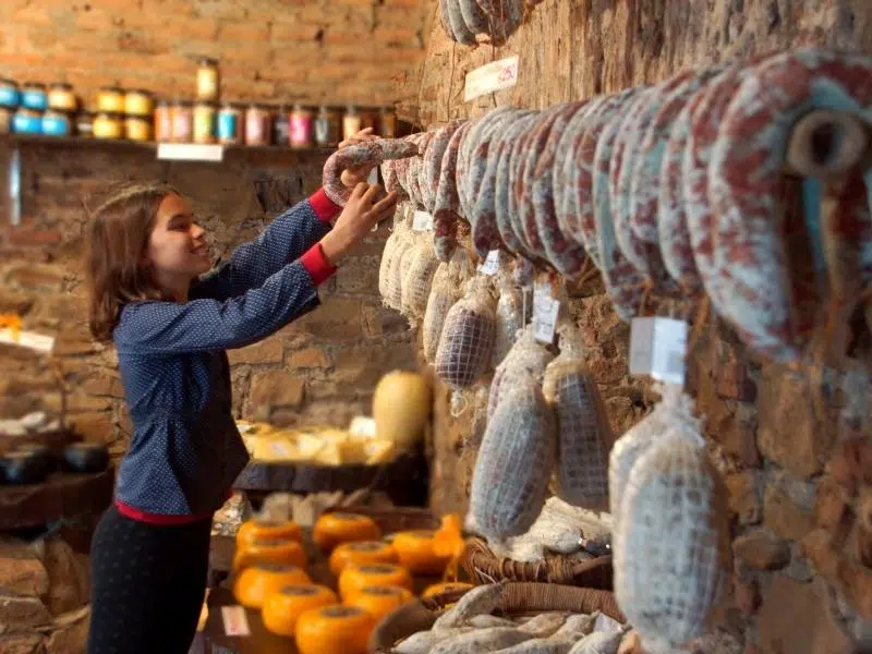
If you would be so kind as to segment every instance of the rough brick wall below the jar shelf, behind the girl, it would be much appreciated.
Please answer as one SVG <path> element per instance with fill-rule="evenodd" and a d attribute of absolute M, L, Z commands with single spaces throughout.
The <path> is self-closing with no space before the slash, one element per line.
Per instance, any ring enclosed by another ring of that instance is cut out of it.
<path fill-rule="evenodd" d="M 2 146 L 0 146 L 1 148 Z M 0 174 L 8 152 L 0 149 Z M 88 338 L 80 252 L 82 203 L 111 179 L 160 179 L 193 203 L 218 253 L 255 237 L 269 217 L 320 183 L 323 155 L 233 152 L 221 165 L 160 162 L 135 146 L 34 145 L 22 149 L 20 227 L 0 209 L 0 313 L 58 336 L 70 419 L 88 438 L 123 451 L 130 420 L 111 349 Z M 5 177 L 2 177 L 5 179 Z M 346 424 L 368 412 L 375 382 L 414 365 L 408 325 L 377 296 L 385 233 L 376 232 L 323 287 L 323 306 L 274 337 L 230 353 L 238 415 L 277 424 Z M 0 415 L 57 410 L 58 384 L 45 361 L 0 348 Z"/>

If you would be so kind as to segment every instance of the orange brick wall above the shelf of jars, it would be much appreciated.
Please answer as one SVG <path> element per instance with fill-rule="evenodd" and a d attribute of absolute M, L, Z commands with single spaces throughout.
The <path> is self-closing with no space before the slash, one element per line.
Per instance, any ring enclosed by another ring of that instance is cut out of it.
<path fill-rule="evenodd" d="M 422 55 L 419 0 L 7 0 L 0 75 L 192 98 L 196 60 L 220 59 L 222 97 L 389 104 Z"/>

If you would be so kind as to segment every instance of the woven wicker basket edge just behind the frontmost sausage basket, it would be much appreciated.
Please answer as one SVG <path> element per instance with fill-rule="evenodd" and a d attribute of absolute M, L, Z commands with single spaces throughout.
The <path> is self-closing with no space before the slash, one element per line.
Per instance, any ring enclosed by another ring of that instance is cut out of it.
<path fill-rule="evenodd" d="M 529 581 L 577 585 L 600 591 L 613 590 L 611 556 L 578 561 L 556 555 L 526 564 L 498 557 L 481 538 L 469 538 L 460 565 L 477 584 Z"/>

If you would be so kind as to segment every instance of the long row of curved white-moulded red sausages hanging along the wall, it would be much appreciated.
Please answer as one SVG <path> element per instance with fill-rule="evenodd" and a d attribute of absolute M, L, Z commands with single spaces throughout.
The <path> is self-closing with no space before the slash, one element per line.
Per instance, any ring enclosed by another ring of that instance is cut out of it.
<path fill-rule="evenodd" d="M 649 292 L 707 295 L 749 347 L 792 361 L 809 325 L 797 317 L 802 266 L 783 234 L 796 204 L 785 193 L 789 158 L 815 169 L 846 149 L 858 160 L 868 145 L 861 130 L 831 137 L 826 156 L 810 152 L 836 121 L 809 133 L 809 152 L 790 154 L 797 120 L 816 109 L 872 123 L 872 59 L 802 49 L 542 111 L 500 107 L 407 137 L 420 156 L 382 170 L 388 190 L 433 214 L 443 262 L 463 220 L 481 257 L 499 249 L 569 279 L 596 266 L 622 319 Z M 847 292 L 834 282 L 872 283 L 863 172 L 840 170 L 826 189 L 832 217 L 820 217 L 814 180 L 803 182 L 803 256 L 823 253 L 816 271 L 831 294 Z"/>

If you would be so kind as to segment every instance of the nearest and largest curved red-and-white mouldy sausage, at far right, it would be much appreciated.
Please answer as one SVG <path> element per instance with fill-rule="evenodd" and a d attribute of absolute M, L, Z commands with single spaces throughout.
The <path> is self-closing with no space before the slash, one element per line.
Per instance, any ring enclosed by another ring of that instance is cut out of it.
<path fill-rule="evenodd" d="M 717 249 L 715 276 L 706 290 L 711 287 L 713 305 L 739 330 L 746 344 L 775 360 L 798 356 L 785 275 L 788 266 L 777 231 L 784 144 L 799 113 L 809 108 L 861 112 L 868 120 L 872 116 L 870 80 L 869 57 L 787 52 L 748 69 L 723 113 L 707 174 Z M 700 125 L 697 152 L 711 144 L 706 126 Z"/>

